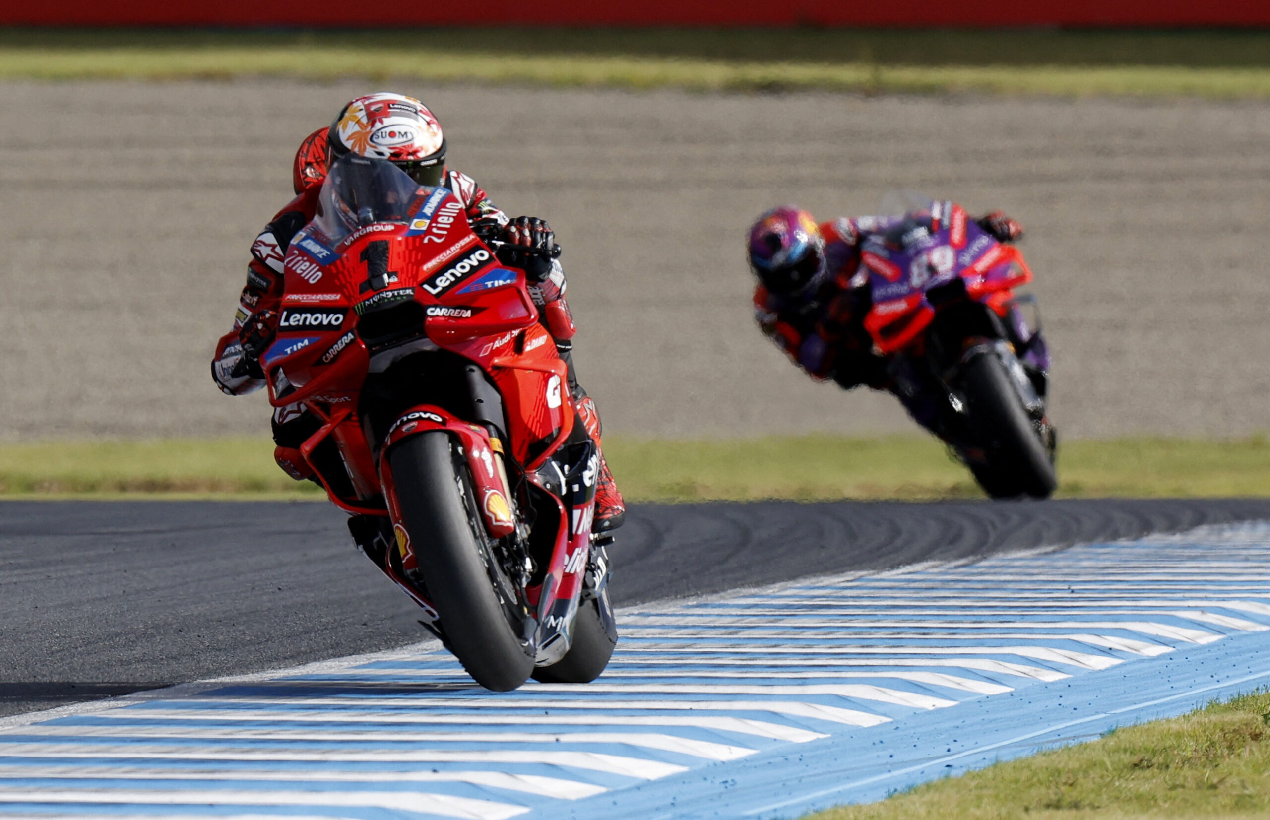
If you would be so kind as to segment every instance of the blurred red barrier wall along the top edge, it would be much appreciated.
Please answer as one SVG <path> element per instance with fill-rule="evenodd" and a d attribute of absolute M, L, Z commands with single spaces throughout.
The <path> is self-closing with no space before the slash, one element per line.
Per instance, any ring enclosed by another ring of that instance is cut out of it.
<path fill-rule="evenodd" d="M 0 25 L 1270 27 L 1270 0 L 0 0 Z"/>

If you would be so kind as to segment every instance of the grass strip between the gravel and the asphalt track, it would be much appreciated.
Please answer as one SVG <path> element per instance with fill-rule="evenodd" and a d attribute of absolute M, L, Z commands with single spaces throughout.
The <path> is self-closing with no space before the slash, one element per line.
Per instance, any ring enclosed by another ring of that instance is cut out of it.
<path fill-rule="evenodd" d="M 635 501 L 983 498 L 932 438 L 837 435 L 657 440 L 607 437 Z M 1270 442 L 1128 438 L 1059 447 L 1059 496 L 1270 496 Z M 0 496 L 320 499 L 287 477 L 267 439 L 0 444 Z"/>

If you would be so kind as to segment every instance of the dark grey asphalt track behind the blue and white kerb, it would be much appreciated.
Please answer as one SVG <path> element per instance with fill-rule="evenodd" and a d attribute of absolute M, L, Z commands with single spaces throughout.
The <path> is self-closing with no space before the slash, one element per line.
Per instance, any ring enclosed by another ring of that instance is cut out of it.
<path fill-rule="evenodd" d="M 1270 500 L 638 505 L 618 605 L 1270 519 Z M 320 503 L 0 504 L 0 715 L 427 637 Z"/>

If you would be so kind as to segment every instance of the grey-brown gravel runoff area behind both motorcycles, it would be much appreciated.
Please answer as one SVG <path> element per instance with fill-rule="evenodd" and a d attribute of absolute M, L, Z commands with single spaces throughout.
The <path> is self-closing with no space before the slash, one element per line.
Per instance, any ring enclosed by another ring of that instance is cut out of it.
<path fill-rule="evenodd" d="M 381 83 L 5 83 L 0 438 L 265 432 L 208 357 L 310 129 Z M 1027 225 L 1066 435 L 1270 428 L 1270 103 L 429 88 L 452 165 L 565 248 L 610 432 L 913 429 L 754 329 L 745 226 L 890 188 Z"/>

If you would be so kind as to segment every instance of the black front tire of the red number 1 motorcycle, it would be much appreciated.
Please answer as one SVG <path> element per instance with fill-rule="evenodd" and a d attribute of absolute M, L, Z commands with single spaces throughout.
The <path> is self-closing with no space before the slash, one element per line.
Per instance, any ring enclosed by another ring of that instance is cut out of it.
<path fill-rule="evenodd" d="M 453 439 L 442 432 L 414 435 L 392 448 L 389 462 L 450 651 L 486 689 L 517 688 L 533 671 L 533 649 L 522 637 L 527 611 L 485 536 Z"/>

